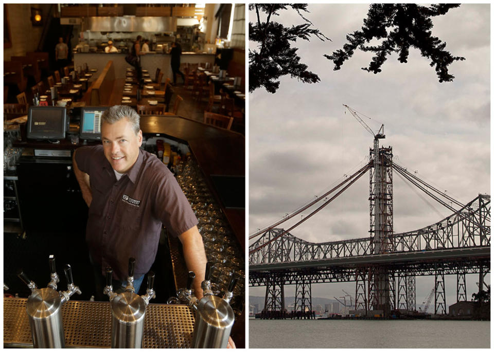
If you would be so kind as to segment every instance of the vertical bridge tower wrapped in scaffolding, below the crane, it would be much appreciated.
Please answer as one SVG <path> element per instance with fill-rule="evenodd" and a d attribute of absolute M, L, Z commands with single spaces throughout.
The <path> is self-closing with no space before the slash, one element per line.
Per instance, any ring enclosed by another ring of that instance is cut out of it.
<path fill-rule="evenodd" d="M 373 166 L 370 173 L 370 229 L 374 254 L 392 251 L 390 235 L 393 233 L 393 149 L 379 147 L 379 140 L 374 138 L 374 149 L 370 151 Z M 390 275 L 384 267 L 375 267 L 369 279 L 372 280 L 372 309 L 382 310 L 387 316 L 391 310 Z"/>

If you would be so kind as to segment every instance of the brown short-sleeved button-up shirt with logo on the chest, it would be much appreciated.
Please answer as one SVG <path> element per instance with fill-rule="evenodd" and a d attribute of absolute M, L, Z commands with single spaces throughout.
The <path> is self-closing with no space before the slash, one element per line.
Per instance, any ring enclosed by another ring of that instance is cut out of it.
<path fill-rule="evenodd" d="M 134 257 L 134 274 L 145 274 L 156 257 L 162 224 L 173 236 L 198 224 L 177 180 L 155 155 L 140 150 L 118 181 L 102 145 L 80 147 L 75 159 L 90 176 L 86 242 L 102 272 L 111 266 L 117 279 L 125 280 Z"/>

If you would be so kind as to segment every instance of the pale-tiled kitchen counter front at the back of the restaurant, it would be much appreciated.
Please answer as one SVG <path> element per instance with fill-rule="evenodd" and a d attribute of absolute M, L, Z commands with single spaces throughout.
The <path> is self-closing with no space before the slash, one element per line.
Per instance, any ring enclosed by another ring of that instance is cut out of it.
<path fill-rule="evenodd" d="M 127 53 L 105 53 L 105 52 L 76 52 L 74 53 L 74 67 L 77 68 L 86 63 L 87 66 L 97 68 L 98 72 L 101 72 L 104 66 L 109 60 L 113 60 L 115 65 L 115 78 L 125 78 L 126 69 L 132 67 L 125 57 Z M 154 78 L 156 68 L 160 68 L 163 72 L 163 82 L 167 78 L 173 79 L 171 66 L 170 66 L 170 54 L 162 53 L 146 53 L 141 55 L 141 66 L 143 69 L 148 70 L 151 78 Z M 215 61 L 215 54 L 196 54 L 196 53 L 182 53 L 181 63 L 210 63 L 213 65 Z"/>

